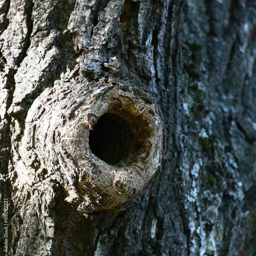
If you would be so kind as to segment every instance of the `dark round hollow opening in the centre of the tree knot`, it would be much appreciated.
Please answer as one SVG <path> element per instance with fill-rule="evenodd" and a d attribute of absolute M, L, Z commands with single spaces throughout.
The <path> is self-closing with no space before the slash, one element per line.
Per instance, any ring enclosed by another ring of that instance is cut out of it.
<path fill-rule="evenodd" d="M 108 164 L 130 164 L 140 148 L 139 127 L 131 117 L 125 120 L 117 114 L 106 113 L 90 131 L 89 145 L 92 153 Z"/>

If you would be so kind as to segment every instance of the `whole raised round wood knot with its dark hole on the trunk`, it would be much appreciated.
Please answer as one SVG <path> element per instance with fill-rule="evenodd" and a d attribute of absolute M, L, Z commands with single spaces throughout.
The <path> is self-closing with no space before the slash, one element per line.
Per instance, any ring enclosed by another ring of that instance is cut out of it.
<path fill-rule="evenodd" d="M 48 111 L 36 116 L 38 108 Z M 160 170 L 161 112 L 132 87 L 62 82 L 35 100 L 27 132 L 32 119 L 34 142 L 24 145 L 32 143 L 41 166 L 61 174 L 66 200 L 81 211 L 124 209 Z"/>

